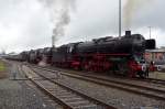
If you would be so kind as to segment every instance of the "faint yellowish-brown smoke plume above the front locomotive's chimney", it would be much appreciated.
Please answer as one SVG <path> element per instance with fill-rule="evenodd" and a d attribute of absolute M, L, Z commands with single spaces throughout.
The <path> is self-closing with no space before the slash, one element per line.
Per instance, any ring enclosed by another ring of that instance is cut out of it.
<path fill-rule="evenodd" d="M 150 3 L 152 0 L 128 0 L 124 6 L 124 28 L 127 30 L 131 29 L 132 21 L 139 10 L 141 10 L 145 4 Z"/>

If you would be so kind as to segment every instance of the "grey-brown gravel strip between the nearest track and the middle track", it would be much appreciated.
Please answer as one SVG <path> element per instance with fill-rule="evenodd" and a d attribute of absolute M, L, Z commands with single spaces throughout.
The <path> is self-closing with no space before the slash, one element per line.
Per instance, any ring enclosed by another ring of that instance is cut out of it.
<path fill-rule="evenodd" d="M 48 73 L 45 72 L 45 74 Z M 66 86 L 73 87 L 74 89 L 77 89 L 84 94 L 106 101 L 117 107 L 118 109 L 165 109 L 164 101 L 130 94 L 114 88 L 100 86 L 89 81 L 79 80 L 66 76 L 62 76 L 62 78 L 55 80 Z"/>

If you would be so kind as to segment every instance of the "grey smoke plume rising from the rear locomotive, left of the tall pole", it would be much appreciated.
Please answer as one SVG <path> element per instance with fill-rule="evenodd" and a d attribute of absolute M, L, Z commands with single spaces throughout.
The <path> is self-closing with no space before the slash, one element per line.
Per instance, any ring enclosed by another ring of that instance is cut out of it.
<path fill-rule="evenodd" d="M 54 23 L 53 36 L 54 43 L 65 35 L 65 28 L 70 22 L 70 10 L 75 10 L 76 0 L 41 0 L 52 13 Z"/>

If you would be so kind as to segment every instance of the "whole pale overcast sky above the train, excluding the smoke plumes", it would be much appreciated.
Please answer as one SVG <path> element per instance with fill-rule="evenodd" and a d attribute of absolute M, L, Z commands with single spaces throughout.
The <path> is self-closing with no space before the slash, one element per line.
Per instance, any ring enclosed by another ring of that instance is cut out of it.
<path fill-rule="evenodd" d="M 56 12 L 53 12 L 54 4 L 46 6 L 43 1 L 0 0 L 0 50 L 21 52 L 52 45 Z M 130 29 L 133 33 L 141 33 L 148 39 L 148 26 L 152 26 L 152 37 L 156 39 L 157 46 L 165 46 L 165 0 L 142 1 L 147 2 L 141 2 L 133 10 Z M 118 35 L 118 0 L 73 2 L 74 8 L 68 13 L 69 22 L 64 25 L 65 35 L 57 37 L 56 45 Z M 122 31 L 127 30 L 125 3 L 127 0 L 122 0 Z"/>

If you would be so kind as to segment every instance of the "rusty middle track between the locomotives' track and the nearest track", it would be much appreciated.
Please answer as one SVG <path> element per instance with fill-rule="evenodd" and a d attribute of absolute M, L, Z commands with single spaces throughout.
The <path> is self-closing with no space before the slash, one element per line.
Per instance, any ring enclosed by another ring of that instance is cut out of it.
<path fill-rule="evenodd" d="M 46 75 L 48 76 L 48 73 L 58 73 L 61 72 L 62 75 L 64 76 L 69 76 L 73 78 L 77 78 L 77 79 L 82 79 L 86 81 L 91 81 L 95 84 L 99 84 L 99 85 L 103 85 L 103 86 L 108 86 L 108 87 L 113 87 L 113 88 L 118 88 L 124 91 L 129 91 L 129 92 L 133 92 L 133 94 L 138 94 L 138 95 L 143 95 L 150 98 L 154 98 L 157 100 L 165 100 L 165 89 L 158 89 L 158 88 L 153 88 L 153 87 L 147 87 L 147 86 L 142 86 L 142 85 L 134 85 L 133 83 L 123 83 L 123 81 L 117 81 L 117 80 L 111 80 L 111 79 L 103 79 L 103 78 L 99 78 L 99 77 L 95 77 L 95 76 L 89 76 L 89 75 L 81 75 L 81 74 L 69 74 L 69 73 L 65 73 L 62 70 L 55 70 L 55 69 L 47 69 L 47 68 L 42 68 L 42 67 L 34 67 L 34 70 L 45 70 Z"/>

